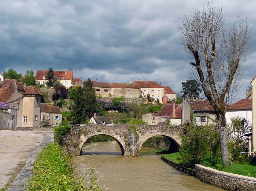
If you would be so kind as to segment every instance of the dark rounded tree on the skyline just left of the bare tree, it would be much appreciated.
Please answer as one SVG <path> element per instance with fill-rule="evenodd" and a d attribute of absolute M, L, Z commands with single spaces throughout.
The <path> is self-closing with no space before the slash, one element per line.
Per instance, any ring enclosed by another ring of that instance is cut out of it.
<path fill-rule="evenodd" d="M 200 93 L 202 93 L 202 89 L 200 88 L 200 83 L 196 80 L 186 80 L 186 82 L 182 82 L 182 91 L 183 97 L 188 95 L 189 98 L 197 99 L 199 98 Z"/>

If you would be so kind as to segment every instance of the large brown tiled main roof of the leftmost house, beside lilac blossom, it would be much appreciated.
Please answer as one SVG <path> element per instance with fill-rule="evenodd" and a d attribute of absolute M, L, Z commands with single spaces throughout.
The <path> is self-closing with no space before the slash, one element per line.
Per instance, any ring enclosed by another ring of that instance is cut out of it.
<path fill-rule="evenodd" d="M 15 79 L 6 78 L 0 89 L 0 102 L 6 103 L 16 89 L 22 90 L 25 92 L 25 89 L 23 88 L 23 86 L 24 85 L 22 83 L 18 82 Z"/>

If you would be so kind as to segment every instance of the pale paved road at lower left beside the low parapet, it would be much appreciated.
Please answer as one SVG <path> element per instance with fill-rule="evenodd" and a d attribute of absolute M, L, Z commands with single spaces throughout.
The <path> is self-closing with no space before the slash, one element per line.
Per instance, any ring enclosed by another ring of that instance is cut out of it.
<path fill-rule="evenodd" d="M 47 131 L 0 131 L 0 189 L 42 141 Z"/>

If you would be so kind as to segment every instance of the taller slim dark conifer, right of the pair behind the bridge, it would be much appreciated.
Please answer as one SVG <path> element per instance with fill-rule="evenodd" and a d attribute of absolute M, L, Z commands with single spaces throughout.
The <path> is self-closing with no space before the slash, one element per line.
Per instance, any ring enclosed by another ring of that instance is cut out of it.
<path fill-rule="evenodd" d="M 93 114 L 98 109 L 98 102 L 96 100 L 95 88 L 93 87 L 93 82 L 88 78 L 87 81 L 83 83 L 84 93 L 85 93 L 85 112 L 88 118 L 91 118 Z"/>

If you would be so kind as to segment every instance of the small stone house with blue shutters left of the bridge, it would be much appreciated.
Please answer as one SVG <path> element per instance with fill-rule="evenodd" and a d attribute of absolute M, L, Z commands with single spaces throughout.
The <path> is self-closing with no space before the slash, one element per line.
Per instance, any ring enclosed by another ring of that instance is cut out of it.
<path fill-rule="evenodd" d="M 41 110 L 41 122 L 49 120 L 52 127 L 58 127 L 61 125 L 62 112 L 59 106 L 53 106 L 46 103 L 40 104 Z"/>

